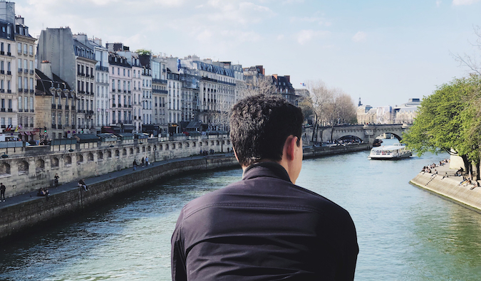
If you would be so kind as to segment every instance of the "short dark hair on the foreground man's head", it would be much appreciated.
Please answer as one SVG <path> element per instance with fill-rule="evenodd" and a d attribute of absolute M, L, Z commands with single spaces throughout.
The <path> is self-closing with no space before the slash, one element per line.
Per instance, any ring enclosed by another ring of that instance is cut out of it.
<path fill-rule="evenodd" d="M 230 138 L 241 166 L 281 161 L 289 136 L 301 145 L 304 116 L 299 107 L 274 95 L 254 95 L 232 107 Z"/>

